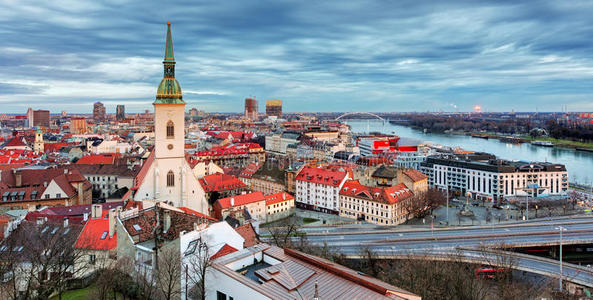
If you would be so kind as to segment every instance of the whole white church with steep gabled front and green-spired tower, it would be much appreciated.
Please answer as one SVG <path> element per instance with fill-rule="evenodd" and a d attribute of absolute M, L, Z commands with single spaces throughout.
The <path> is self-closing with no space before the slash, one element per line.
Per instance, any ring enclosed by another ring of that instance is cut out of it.
<path fill-rule="evenodd" d="M 154 149 L 135 178 L 131 190 L 144 208 L 156 202 L 187 207 L 208 214 L 208 202 L 198 178 L 185 159 L 185 101 L 175 79 L 171 23 L 167 24 L 164 76 L 154 105 Z"/>

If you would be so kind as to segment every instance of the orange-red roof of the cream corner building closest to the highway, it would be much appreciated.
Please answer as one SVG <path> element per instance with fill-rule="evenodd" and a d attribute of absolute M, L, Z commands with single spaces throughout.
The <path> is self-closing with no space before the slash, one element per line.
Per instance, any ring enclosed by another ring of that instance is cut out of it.
<path fill-rule="evenodd" d="M 403 183 L 387 187 L 370 187 L 362 185 L 358 180 L 351 180 L 344 183 L 340 195 L 365 199 L 386 204 L 394 204 L 407 199 L 414 194 Z"/>

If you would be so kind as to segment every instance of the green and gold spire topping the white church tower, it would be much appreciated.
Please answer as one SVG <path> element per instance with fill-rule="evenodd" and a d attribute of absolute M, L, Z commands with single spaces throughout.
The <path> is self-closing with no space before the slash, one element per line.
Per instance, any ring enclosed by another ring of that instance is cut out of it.
<path fill-rule="evenodd" d="M 163 61 L 163 80 L 156 91 L 153 104 L 185 104 L 181 94 L 179 82 L 175 79 L 175 58 L 173 58 L 173 38 L 171 37 L 171 22 L 167 22 L 167 42 L 165 45 L 165 60 Z"/>

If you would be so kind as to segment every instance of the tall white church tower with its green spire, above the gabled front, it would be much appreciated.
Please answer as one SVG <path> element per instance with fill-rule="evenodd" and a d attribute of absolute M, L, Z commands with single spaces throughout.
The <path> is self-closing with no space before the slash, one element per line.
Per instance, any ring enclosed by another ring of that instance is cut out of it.
<path fill-rule="evenodd" d="M 184 157 L 185 101 L 175 79 L 175 58 L 171 23 L 167 23 L 167 42 L 163 80 L 156 92 L 154 105 L 155 158 Z"/>

